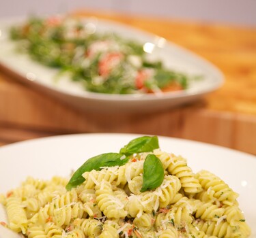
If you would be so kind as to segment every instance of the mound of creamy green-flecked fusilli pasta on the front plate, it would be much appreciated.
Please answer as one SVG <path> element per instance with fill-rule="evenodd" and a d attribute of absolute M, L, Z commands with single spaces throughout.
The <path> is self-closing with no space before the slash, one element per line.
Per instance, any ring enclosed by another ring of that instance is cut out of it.
<path fill-rule="evenodd" d="M 62 177 L 50 181 L 28 177 L 20 187 L 0 195 L 7 226 L 28 238 L 246 238 L 251 234 L 238 194 L 221 178 L 205 170 L 193 173 L 185 158 L 146 145 L 149 141 L 150 137 L 140 137 L 128 143 L 115 153 L 111 167 L 109 159 L 96 156 L 102 163 L 85 169 L 83 182 L 70 190 Z M 122 156 L 125 163 L 119 163 Z M 145 180 L 152 182 L 148 158 L 157 165 L 158 182 L 141 190 Z"/>

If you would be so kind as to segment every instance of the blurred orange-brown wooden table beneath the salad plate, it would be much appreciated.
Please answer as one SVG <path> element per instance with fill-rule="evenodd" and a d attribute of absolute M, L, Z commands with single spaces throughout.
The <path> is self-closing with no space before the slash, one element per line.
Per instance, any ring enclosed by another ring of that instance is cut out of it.
<path fill-rule="evenodd" d="M 165 37 L 214 63 L 225 84 L 193 105 L 150 114 L 102 114 L 79 112 L 0 68 L 0 145 L 48 135 L 118 132 L 193 139 L 256 154 L 256 29 L 107 12 L 76 14 Z"/>

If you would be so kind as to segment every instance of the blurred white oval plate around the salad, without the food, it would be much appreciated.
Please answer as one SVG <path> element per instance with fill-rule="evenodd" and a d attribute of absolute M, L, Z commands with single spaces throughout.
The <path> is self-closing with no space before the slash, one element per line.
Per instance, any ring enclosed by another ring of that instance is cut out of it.
<path fill-rule="evenodd" d="M 203 80 L 193 82 L 186 90 L 165 92 L 161 95 L 106 95 L 86 92 L 80 84 L 71 82 L 68 78 L 56 83 L 53 80 L 57 73 L 55 69 L 40 65 L 29 56 L 16 52 L 16 44 L 9 39 L 8 29 L 11 25 L 22 22 L 17 19 L 0 21 L 0 64 L 20 75 L 23 82 L 83 110 L 141 112 L 166 109 L 195 101 L 223 84 L 223 75 L 214 65 L 171 42 L 165 42 L 161 37 L 116 22 L 95 18 L 87 20 L 96 26 L 96 32 L 112 31 L 142 44 L 154 44 L 154 58 L 161 59 L 170 69 L 202 75 Z"/>

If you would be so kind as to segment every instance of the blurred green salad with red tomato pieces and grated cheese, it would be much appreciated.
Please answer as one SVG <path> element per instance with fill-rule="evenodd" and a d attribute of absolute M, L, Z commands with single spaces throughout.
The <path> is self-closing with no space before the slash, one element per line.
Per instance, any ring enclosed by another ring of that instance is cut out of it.
<path fill-rule="evenodd" d="M 35 61 L 68 73 L 85 90 L 108 94 L 184 90 L 190 78 L 152 61 L 143 44 L 97 33 L 81 18 L 29 18 L 10 37 Z"/>

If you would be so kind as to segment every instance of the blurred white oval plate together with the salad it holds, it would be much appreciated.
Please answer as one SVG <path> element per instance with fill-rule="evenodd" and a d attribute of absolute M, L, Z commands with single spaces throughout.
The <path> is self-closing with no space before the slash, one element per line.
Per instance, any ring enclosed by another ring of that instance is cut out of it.
<path fill-rule="evenodd" d="M 0 30 L 1 65 L 80 109 L 165 109 L 223 82 L 218 69 L 195 54 L 107 20 L 34 16 L 0 22 Z"/>

